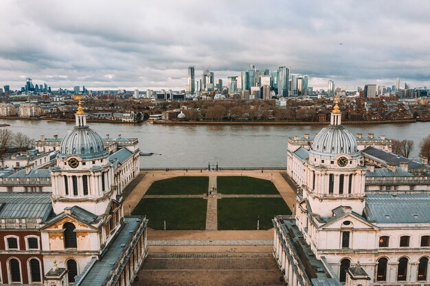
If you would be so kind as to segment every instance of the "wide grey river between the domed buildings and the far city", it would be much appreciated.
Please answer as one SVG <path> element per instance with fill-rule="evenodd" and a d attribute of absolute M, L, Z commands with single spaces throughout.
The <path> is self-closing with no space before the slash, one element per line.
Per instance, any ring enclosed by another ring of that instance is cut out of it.
<path fill-rule="evenodd" d="M 63 138 L 74 122 L 3 120 L 14 132 L 34 139 L 58 134 Z M 139 139 L 140 150 L 154 152 L 141 156 L 141 167 L 286 167 L 287 138 L 317 134 L 324 126 L 168 126 L 142 123 L 89 123 L 100 136 Z M 413 156 L 418 156 L 419 142 L 430 134 L 430 123 L 365 124 L 346 126 L 355 134 L 374 133 L 389 139 L 412 139 Z"/>

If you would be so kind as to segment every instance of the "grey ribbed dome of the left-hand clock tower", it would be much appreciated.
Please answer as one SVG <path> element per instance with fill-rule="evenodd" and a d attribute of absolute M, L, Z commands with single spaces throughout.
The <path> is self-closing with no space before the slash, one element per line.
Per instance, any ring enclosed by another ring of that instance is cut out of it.
<path fill-rule="evenodd" d="M 108 156 L 102 137 L 88 126 L 76 126 L 61 141 L 59 156 L 80 156 L 82 159 L 94 159 Z"/>

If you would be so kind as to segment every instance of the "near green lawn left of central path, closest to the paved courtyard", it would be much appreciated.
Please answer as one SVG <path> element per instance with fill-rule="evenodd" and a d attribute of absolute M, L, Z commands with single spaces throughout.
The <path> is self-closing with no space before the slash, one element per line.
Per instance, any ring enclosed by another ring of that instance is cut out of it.
<path fill-rule="evenodd" d="M 167 230 L 204 230 L 206 205 L 203 198 L 143 198 L 132 215 L 146 215 L 148 227 L 162 230 L 166 219 Z"/>

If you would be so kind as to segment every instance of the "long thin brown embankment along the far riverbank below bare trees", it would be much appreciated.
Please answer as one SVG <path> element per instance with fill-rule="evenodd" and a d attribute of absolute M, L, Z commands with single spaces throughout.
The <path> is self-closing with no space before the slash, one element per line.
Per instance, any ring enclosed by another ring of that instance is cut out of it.
<path fill-rule="evenodd" d="M 394 123 L 415 123 L 415 119 L 407 120 L 374 120 L 374 121 L 342 121 L 342 125 L 363 125 L 363 124 L 394 124 Z M 252 125 L 252 126 L 321 126 L 327 125 L 328 121 L 307 122 L 307 121 L 161 121 L 155 120 L 154 124 L 163 125 Z"/>

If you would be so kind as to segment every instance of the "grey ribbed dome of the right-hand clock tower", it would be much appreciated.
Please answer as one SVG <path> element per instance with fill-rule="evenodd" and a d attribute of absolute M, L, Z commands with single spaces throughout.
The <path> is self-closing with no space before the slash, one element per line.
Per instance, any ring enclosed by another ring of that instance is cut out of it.
<path fill-rule="evenodd" d="M 328 126 L 315 136 L 311 150 L 324 154 L 356 154 L 357 139 L 343 126 Z"/>

